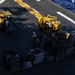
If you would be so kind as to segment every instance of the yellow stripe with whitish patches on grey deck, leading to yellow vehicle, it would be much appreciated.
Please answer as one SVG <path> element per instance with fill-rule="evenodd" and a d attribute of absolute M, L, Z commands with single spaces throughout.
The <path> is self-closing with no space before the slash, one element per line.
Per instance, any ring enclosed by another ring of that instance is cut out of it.
<path fill-rule="evenodd" d="M 35 10 L 34 8 L 30 7 L 28 4 L 24 3 L 22 0 L 15 0 L 19 5 L 26 8 L 31 14 L 35 15 L 37 18 L 41 17 L 41 14 Z"/>

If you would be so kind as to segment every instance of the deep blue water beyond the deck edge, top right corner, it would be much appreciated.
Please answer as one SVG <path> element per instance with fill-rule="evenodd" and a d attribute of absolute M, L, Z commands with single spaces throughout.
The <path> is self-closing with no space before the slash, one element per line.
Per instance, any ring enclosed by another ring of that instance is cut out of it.
<path fill-rule="evenodd" d="M 53 1 L 75 13 L 75 0 L 53 0 Z"/>

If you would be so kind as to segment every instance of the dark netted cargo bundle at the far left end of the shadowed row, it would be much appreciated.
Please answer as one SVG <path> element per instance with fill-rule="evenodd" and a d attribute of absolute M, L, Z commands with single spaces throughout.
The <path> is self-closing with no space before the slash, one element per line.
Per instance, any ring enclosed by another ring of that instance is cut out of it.
<path fill-rule="evenodd" d="M 4 53 L 4 63 L 10 73 L 21 69 L 20 57 L 15 51 Z"/>

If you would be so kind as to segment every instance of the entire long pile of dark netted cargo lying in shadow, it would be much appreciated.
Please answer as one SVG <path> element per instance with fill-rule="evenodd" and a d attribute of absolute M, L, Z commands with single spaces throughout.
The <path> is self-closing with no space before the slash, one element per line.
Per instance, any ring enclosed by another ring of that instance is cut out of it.
<path fill-rule="evenodd" d="M 19 57 L 14 50 L 4 53 L 4 63 L 8 71 L 14 72 L 22 69 L 30 69 L 50 61 L 58 61 L 75 53 L 74 36 L 66 39 L 61 32 L 54 32 L 42 37 L 33 36 L 33 46 L 29 53 Z"/>

